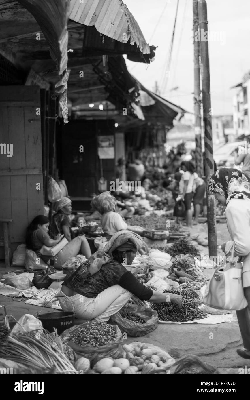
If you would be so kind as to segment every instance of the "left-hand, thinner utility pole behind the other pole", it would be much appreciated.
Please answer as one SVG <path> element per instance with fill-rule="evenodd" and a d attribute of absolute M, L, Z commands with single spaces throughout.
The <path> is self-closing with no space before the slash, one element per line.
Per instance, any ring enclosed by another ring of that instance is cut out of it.
<path fill-rule="evenodd" d="M 198 0 L 193 0 L 194 12 L 194 115 L 195 115 L 195 160 L 196 172 L 204 176 L 202 156 L 202 120 L 201 120 L 201 94 L 200 94 L 200 43 L 197 38 L 199 28 Z"/>

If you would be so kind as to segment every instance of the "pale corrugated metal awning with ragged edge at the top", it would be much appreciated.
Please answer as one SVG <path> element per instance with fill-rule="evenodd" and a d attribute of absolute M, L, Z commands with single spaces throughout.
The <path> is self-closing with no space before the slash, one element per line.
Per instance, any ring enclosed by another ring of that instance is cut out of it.
<path fill-rule="evenodd" d="M 82 25 L 94 25 L 98 32 L 118 42 L 130 40 L 143 54 L 150 54 L 149 44 L 122 0 L 71 0 L 69 18 Z"/>

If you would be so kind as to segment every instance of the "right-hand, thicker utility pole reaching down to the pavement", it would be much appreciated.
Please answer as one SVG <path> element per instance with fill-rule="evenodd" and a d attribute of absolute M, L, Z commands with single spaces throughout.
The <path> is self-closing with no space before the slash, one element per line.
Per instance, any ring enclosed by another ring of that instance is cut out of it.
<path fill-rule="evenodd" d="M 208 52 L 208 15 L 206 0 L 198 0 L 199 28 L 200 28 L 200 56 L 202 74 L 202 108 L 205 139 L 205 173 L 208 188 L 211 175 L 214 173 L 213 139 L 212 139 L 212 108 L 210 96 L 210 70 Z M 204 36 L 205 35 L 205 36 Z M 204 39 L 206 38 L 206 41 Z M 207 190 L 208 207 L 208 250 L 209 256 L 217 256 L 217 234 L 215 196 Z"/>

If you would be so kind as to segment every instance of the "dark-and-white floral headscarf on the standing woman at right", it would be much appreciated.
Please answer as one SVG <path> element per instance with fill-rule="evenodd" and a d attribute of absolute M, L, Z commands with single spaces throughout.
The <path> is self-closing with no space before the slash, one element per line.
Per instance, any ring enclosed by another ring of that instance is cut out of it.
<path fill-rule="evenodd" d="M 250 178 L 235 168 L 220 168 L 211 176 L 208 190 L 223 194 L 226 204 L 232 198 L 250 200 Z"/>

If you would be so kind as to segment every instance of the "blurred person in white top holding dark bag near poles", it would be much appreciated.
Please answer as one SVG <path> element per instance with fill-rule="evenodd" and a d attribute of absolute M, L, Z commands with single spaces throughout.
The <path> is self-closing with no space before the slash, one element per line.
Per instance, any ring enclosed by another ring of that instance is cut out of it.
<path fill-rule="evenodd" d="M 179 183 L 179 196 L 176 201 L 183 200 L 186 209 L 186 225 L 188 228 L 192 228 L 192 211 L 191 204 L 194 196 L 194 165 L 190 161 L 182 161 L 180 170 L 184 173 L 181 176 Z"/>

